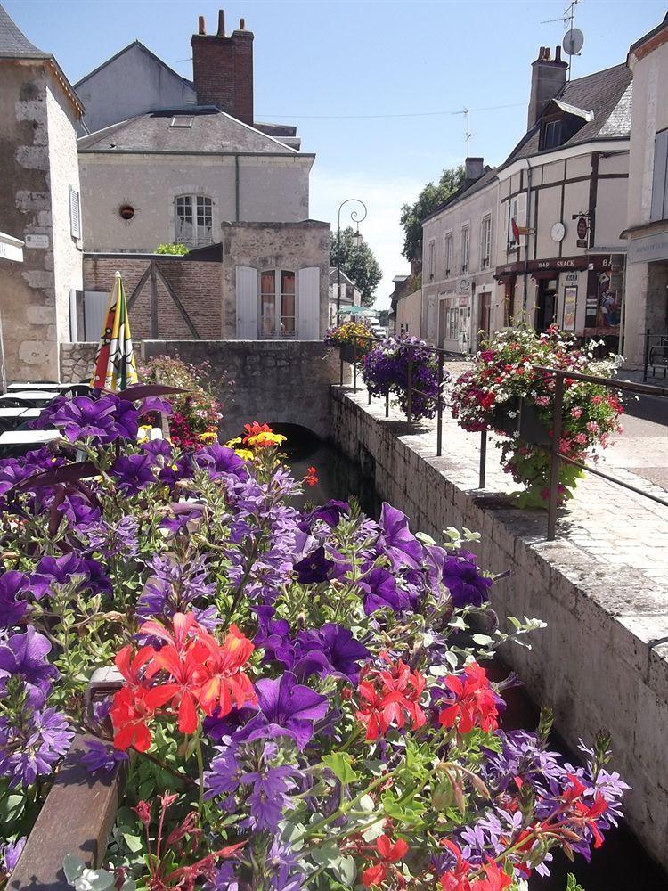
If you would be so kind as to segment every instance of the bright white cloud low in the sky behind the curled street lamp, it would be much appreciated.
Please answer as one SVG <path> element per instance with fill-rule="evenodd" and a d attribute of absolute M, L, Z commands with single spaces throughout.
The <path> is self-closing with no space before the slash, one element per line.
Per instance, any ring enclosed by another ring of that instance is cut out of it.
<path fill-rule="evenodd" d="M 359 198 L 368 208 L 368 215 L 360 224 L 364 240 L 378 258 L 383 278 L 376 292 L 375 306 L 389 307 L 389 295 L 394 290 L 395 275 L 407 274 L 408 262 L 402 257 L 403 229 L 399 225 L 402 205 L 415 200 L 424 183 L 409 176 L 373 179 L 369 176 L 337 176 L 318 168 L 311 174 L 311 208 L 314 219 L 330 221 L 332 232 L 337 228 L 338 206 L 346 198 Z M 351 224 L 350 211 L 354 204 L 346 204 L 341 211 L 341 228 Z"/>

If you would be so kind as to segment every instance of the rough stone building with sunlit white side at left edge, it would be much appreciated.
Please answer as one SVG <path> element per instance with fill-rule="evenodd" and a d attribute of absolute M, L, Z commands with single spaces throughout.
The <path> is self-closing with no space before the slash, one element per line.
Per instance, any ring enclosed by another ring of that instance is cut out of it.
<path fill-rule="evenodd" d="M 75 127 L 83 114 L 50 53 L 0 7 L 0 230 L 25 242 L 0 268 L 8 380 L 57 380 L 69 305 L 82 287 L 82 216 Z"/>

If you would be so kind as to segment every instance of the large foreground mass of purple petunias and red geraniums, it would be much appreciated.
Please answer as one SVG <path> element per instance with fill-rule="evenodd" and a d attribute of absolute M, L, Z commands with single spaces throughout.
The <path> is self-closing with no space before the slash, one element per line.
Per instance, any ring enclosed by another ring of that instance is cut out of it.
<path fill-rule="evenodd" d="M 599 846 L 608 740 L 573 767 L 548 715 L 502 730 L 483 663 L 541 623 L 501 627 L 476 535 L 296 511 L 265 425 L 241 454 L 138 444 L 129 396 L 61 405 L 60 446 L 0 463 L 5 871 L 83 726 L 81 762 L 128 781 L 107 869 L 66 858 L 79 889 L 499 891 Z"/>

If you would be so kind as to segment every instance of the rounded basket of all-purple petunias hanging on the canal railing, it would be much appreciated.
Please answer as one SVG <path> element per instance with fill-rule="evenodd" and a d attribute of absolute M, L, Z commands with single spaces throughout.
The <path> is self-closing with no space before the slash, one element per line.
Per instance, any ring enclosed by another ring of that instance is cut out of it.
<path fill-rule="evenodd" d="M 408 370 L 411 361 L 411 414 L 414 420 L 433 418 L 438 408 L 438 360 L 419 338 L 403 334 L 388 338 L 364 356 L 362 377 L 372 396 L 395 396 L 408 410 Z M 444 381 L 450 380 L 444 372 Z"/>

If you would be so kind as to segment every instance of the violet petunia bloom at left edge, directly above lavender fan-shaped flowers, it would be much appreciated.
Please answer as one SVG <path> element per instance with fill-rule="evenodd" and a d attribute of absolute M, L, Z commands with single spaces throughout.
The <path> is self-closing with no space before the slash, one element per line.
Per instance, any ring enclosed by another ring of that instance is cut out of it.
<path fill-rule="evenodd" d="M 0 644 L 0 691 L 6 694 L 10 677 L 19 677 L 26 693 L 26 703 L 32 708 L 44 706 L 58 669 L 46 658 L 51 642 L 32 625 L 23 634 L 12 634 Z"/>

